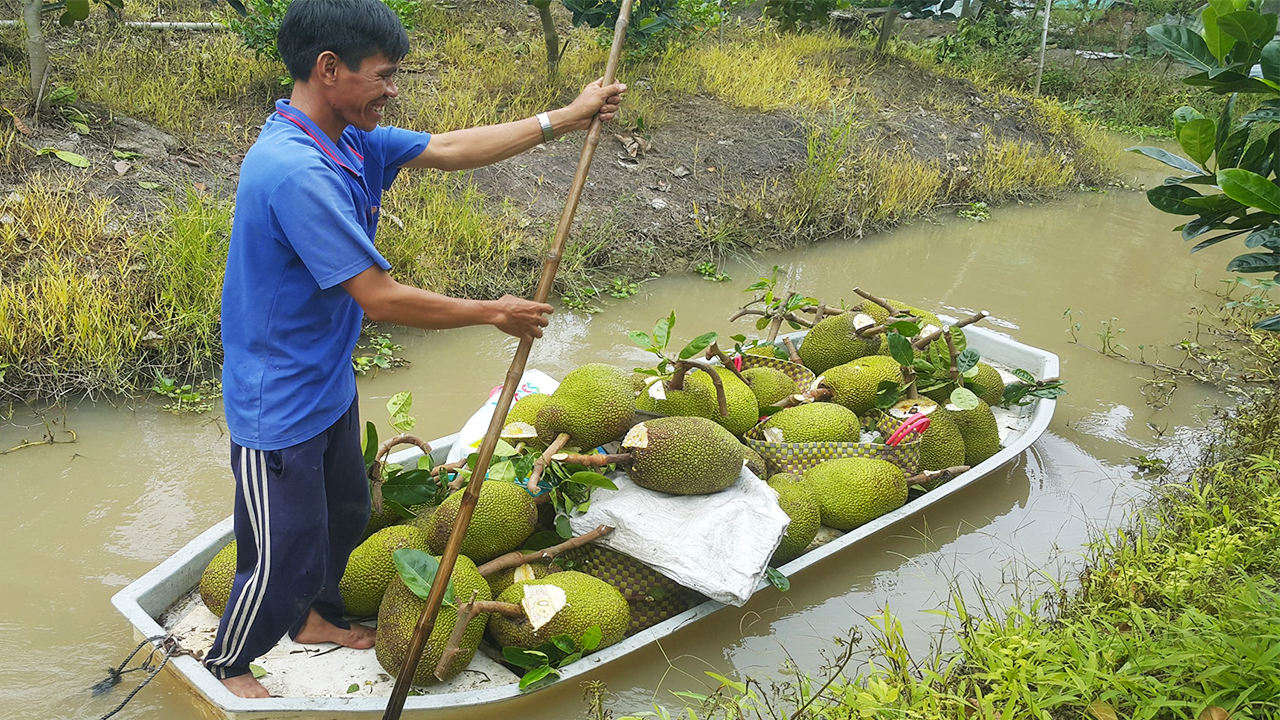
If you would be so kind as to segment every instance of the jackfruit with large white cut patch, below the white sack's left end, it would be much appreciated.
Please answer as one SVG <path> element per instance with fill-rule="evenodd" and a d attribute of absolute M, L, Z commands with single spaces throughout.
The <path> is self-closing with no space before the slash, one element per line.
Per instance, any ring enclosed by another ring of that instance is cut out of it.
<path fill-rule="evenodd" d="M 602 650 L 621 641 L 631 624 L 631 607 L 617 588 L 576 570 L 556 573 L 540 580 L 516 583 L 503 591 L 498 601 L 520 605 L 529 585 L 556 585 L 564 591 L 567 603 L 538 630 L 534 630 L 524 618 L 493 614 L 489 619 L 489 632 L 503 647 L 532 650 L 556 635 L 568 635 L 581 650 L 582 634 L 591 625 L 599 625 L 603 637 L 596 650 Z"/>

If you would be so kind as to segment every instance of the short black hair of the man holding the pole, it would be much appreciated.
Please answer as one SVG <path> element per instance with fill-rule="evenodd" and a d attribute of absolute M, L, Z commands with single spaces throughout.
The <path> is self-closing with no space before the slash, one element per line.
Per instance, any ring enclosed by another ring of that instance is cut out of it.
<path fill-rule="evenodd" d="M 398 61 L 408 54 L 408 33 L 380 0 L 293 0 L 280 22 L 276 47 L 289 76 L 306 82 L 325 50 L 352 70 L 379 51 Z"/>

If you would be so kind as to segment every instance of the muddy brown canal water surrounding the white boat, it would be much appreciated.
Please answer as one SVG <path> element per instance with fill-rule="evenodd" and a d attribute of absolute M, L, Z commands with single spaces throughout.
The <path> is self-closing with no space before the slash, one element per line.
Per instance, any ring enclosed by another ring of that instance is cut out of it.
<path fill-rule="evenodd" d="M 1130 173 L 1130 182 L 1158 181 L 1144 170 Z M 849 288 L 860 284 L 952 315 L 987 309 L 995 327 L 1059 354 L 1070 389 L 1030 450 L 945 506 L 794 577 L 785 594 L 758 593 L 746 607 L 723 610 L 599 670 L 593 678 L 613 691 L 614 712 L 669 705 L 671 691 L 705 692 L 714 685 L 707 670 L 778 679 L 790 657 L 817 673 L 836 650 L 832 639 L 867 629 L 867 616 L 886 603 L 913 647 L 927 648 L 940 623 L 928 611 L 946 606 L 952 585 L 970 597 L 1006 598 L 1028 587 L 1020 579 L 1033 570 L 1069 577 L 1089 528 L 1121 523 L 1129 501 L 1147 489 L 1132 457 L 1187 461 L 1211 407 L 1230 402 L 1184 383 L 1169 407 L 1153 410 L 1138 379 L 1149 373 L 1069 343 L 1062 318 L 1071 307 L 1083 325 L 1080 340 L 1094 345 L 1092 333 L 1111 316 L 1134 351 L 1139 343 L 1175 345 L 1190 332 L 1192 305 L 1211 300 L 1193 278 L 1212 288 L 1226 277 L 1220 269 L 1230 243 L 1188 256 L 1169 231 L 1170 217 L 1128 191 L 997 208 L 986 223 L 940 218 L 730 263 L 728 283 L 692 275 L 652 281 L 630 300 L 605 299 L 598 315 L 561 310 L 535 345 L 530 366 L 562 377 L 585 361 L 641 363 L 644 354 L 623 332 L 649 329 L 672 309 L 677 338 L 744 332 L 745 324 L 726 318 L 746 297 L 741 288 L 777 263 L 788 284 L 831 301 L 851 297 Z M 399 341 L 412 366 L 361 380 L 361 409 L 384 423 L 387 398 L 410 389 L 428 438 L 461 425 L 500 382 L 515 348 L 488 329 L 403 333 Z M 1165 350 L 1165 359 L 1172 356 Z M 134 646 L 111 594 L 229 514 L 228 439 L 218 409 L 174 416 L 159 405 L 84 402 L 65 416 L 45 414 L 65 421 L 78 442 L 0 456 L 0 717 L 92 719 L 111 710 L 138 679 L 127 675 L 104 697 L 88 692 Z M 0 427 L 0 447 L 44 432 L 38 418 L 18 413 Z M 518 712 L 552 720 L 582 710 L 581 688 L 564 683 L 503 706 L 434 717 Z M 212 716 L 168 674 L 118 715 Z"/>

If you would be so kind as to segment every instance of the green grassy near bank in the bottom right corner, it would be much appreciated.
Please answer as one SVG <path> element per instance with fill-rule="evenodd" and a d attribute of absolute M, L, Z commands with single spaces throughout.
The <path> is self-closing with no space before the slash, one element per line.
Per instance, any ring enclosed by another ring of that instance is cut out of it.
<path fill-rule="evenodd" d="M 1236 370 L 1249 375 L 1274 370 L 1280 348 L 1248 333 L 1258 316 L 1229 311 L 1221 332 L 1238 347 L 1215 348 L 1245 359 Z M 1007 609 L 957 593 L 952 652 L 913 659 L 886 610 L 865 629 L 865 656 L 846 648 L 838 671 L 726 683 L 682 716 L 1276 717 L 1280 395 L 1254 387 L 1217 416 L 1192 471 L 1157 480 L 1125 527 L 1094 534 L 1075 578 Z M 867 669 L 846 674 L 860 657 Z"/>

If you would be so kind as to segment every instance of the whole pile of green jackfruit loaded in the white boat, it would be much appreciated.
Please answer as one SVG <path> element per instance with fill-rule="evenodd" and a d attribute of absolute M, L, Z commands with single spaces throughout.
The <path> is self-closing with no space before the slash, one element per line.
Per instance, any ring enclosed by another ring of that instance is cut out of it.
<path fill-rule="evenodd" d="M 1002 401 L 1000 373 L 984 363 L 974 364 L 970 355 L 963 374 L 952 368 L 933 387 L 920 387 L 918 379 L 908 382 L 914 370 L 904 372 L 895 359 L 891 345 L 901 347 L 901 341 L 891 341 L 891 336 L 905 327 L 918 337 L 937 329 L 952 333 L 950 348 L 934 340 L 922 351 L 934 352 L 941 366 L 946 361 L 942 352 L 950 352 L 955 363 L 955 346 L 964 345 L 963 331 L 947 328 L 932 313 L 890 304 L 896 310 L 863 302 L 818 318 L 799 346 L 788 345 L 788 350 L 763 341 L 739 343 L 728 354 L 717 347 L 710 364 L 681 357 L 662 364 L 666 373 L 582 365 L 553 393 L 517 401 L 508 413 L 503 439 L 517 452 L 538 456 L 539 462 L 590 464 L 591 455 L 602 455 L 591 466 L 625 470 L 635 484 L 660 493 L 716 493 L 736 483 L 745 465 L 767 478 L 791 519 L 772 560 L 772 565 L 781 565 L 814 547 L 820 527 L 851 530 L 901 507 L 913 484 L 916 492 L 927 492 L 938 482 L 938 475 L 916 471 L 963 471 L 1000 450 L 991 409 Z M 888 325 L 895 329 L 886 331 Z M 768 361 L 751 361 L 762 357 Z M 792 361 L 795 366 L 788 365 Z M 797 383 L 796 378 L 813 379 Z M 886 396 L 893 395 L 890 386 L 902 396 L 890 397 L 893 404 L 886 402 Z M 965 393 L 977 400 L 963 401 L 963 407 L 951 402 L 968 397 Z M 918 438 L 918 468 L 879 457 L 837 456 L 813 462 L 803 473 L 781 473 L 744 442 L 746 436 L 797 446 L 874 445 L 920 414 L 929 423 Z M 878 429 L 884 432 L 877 436 Z M 614 452 L 605 455 L 596 448 Z M 550 477 L 543 475 L 544 487 L 554 482 L 547 480 Z M 416 516 L 389 527 L 381 527 L 388 514 L 375 512 L 367 539 L 351 555 L 339 584 L 347 614 L 376 616 L 376 656 L 392 675 L 401 671 L 425 605 L 397 570 L 393 553 L 403 548 L 443 553 L 463 492 L 453 491 L 434 507 L 413 507 Z M 556 529 L 556 511 L 545 498 L 535 497 L 525 478 L 490 479 L 481 486 L 451 577 L 453 601 L 440 610 L 415 684 L 458 674 L 486 641 L 495 648 L 524 651 L 552 643 L 576 657 L 704 600 L 639 560 L 599 544 L 563 552 L 553 548 L 547 555 L 554 557 L 504 562 L 512 551 L 529 550 L 530 538 Z M 545 542 L 536 550 L 541 547 Z M 499 557 L 504 560 L 492 562 Z M 201 597 L 215 615 L 227 603 L 234 566 L 232 543 L 214 557 L 201 579 Z M 466 602 L 489 611 L 463 614 Z M 460 616 L 466 628 L 456 632 Z"/>

